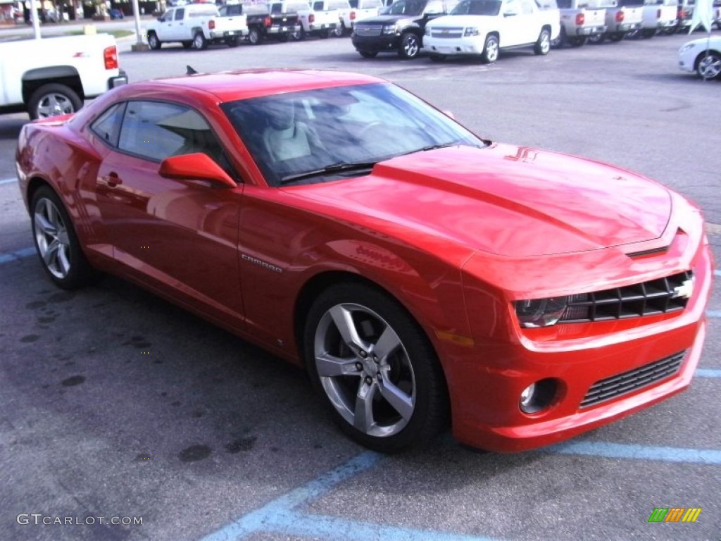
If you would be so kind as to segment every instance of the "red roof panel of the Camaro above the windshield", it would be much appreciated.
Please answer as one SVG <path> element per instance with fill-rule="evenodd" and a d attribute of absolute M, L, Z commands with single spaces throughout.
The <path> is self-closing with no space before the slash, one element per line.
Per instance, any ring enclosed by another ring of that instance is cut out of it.
<path fill-rule="evenodd" d="M 376 77 L 344 71 L 320 70 L 244 70 L 215 74 L 195 74 L 128 85 L 143 90 L 162 90 L 169 85 L 180 90 L 198 90 L 213 94 L 221 102 L 244 100 L 285 92 L 385 82 Z M 137 85 L 137 86 L 136 86 Z"/>

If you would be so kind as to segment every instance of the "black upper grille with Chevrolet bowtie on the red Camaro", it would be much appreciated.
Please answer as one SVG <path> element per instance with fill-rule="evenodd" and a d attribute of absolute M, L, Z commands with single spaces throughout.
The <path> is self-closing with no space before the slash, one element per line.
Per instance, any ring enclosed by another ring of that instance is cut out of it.
<path fill-rule="evenodd" d="M 678 312 L 689 301 L 692 279 L 691 271 L 686 271 L 632 286 L 571 295 L 559 322 L 622 320 Z"/>

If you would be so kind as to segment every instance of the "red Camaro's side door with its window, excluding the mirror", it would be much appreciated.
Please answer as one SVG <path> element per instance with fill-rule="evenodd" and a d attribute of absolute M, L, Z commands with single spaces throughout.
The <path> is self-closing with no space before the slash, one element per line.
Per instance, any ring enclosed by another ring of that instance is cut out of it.
<path fill-rule="evenodd" d="M 100 234 L 112 257 L 136 278 L 240 326 L 238 223 L 243 185 L 174 180 L 162 159 L 203 152 L 228 170 L 218 139 L 200 113 L 176 103 L 133 100 L 117 135 L 112 116 L 92 131 L 111 146 L 99 164 L 95 197 Z"/>

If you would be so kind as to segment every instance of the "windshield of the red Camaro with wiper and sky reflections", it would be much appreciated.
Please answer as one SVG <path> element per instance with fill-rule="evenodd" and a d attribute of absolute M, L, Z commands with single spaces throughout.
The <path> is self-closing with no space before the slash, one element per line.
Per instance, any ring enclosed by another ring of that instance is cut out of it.
<path fill-rule="evenodd" d="M 221 104 L 273 186 L 367 174 L 377 162 L 438 146 L 485 146 L 393 84 L 361 84 Z"/>

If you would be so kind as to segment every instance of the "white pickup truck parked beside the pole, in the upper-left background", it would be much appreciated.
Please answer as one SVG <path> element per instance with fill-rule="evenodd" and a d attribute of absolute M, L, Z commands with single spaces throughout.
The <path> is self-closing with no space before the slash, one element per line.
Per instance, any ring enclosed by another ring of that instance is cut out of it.
<path fill-rule="evenodd" d="M 146 25 L 148 45 L 159 49 L 163 43 L 180 42 L 186 49 L 201 50 L 208 43 L 238 45 L 248 35 L 245 15 L 221 17 L 214 4 L 187 4 L 169 8 Z"/>

